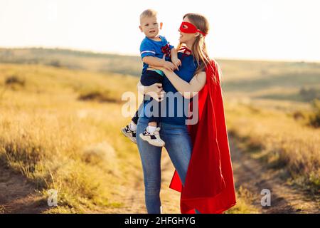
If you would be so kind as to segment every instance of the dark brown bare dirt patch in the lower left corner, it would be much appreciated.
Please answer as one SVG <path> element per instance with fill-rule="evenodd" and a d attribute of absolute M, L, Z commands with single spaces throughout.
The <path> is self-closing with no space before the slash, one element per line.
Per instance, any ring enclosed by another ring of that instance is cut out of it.
<path fill-rule="evenodd" d="M 0 163 L 0 214 L 40 213 L 48 209 L 35 187 L 20 173 Z"/>

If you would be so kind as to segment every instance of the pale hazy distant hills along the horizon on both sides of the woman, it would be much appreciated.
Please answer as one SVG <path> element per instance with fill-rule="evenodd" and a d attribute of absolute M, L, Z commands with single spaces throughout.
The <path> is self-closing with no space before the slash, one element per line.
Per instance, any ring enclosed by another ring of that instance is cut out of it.
<path fill-rule="evenodd" d="M 320 98 L 320 63 L 216 59 L 231 98 L 310 101 Z M 0 48 L 0 63 L 39 64 L 139 77 L 139 56 L 50 48 Z"/>

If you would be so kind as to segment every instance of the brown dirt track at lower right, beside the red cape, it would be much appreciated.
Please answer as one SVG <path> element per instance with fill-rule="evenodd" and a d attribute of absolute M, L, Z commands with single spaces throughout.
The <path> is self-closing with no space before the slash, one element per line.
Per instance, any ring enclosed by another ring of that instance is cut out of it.
<path fill-rule="evenodd" d="M 252 193 L 252 205 L 261 213 L 320 213 L 319 202 L 306 197 L 301 190 L 294 189 L 279 178 L 275 170 L 270 170 L 242 152 L 230 139 L 230 150 L 233 159 L 235 187 L 240 186 Z M 271 206 L 262 207 L 260 195 L 263 189 L 271 192 Z"/>

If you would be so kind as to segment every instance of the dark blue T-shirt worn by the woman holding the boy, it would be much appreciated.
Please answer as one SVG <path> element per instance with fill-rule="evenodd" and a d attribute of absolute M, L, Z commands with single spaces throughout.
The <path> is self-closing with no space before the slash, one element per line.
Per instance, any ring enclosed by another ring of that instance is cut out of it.
<path fill-rule="evenodd" d="M 178 52 L 178 58 L 181 60 L 182 66 L 179 67 L 179 71 L 174 71 L 181 79 L 186 82 L 190 82 L 198 67 L 197 62 L 193 59 L 193 56 L 183 56 L 183 53 Z M 186 99 L 178 93 L 176 88 L 171 84 L 168 78 L 164 77 L 162 84 L 166 96 L 161 102 L 161 122 L 169 123 L 173 125 L 186 125 L 186 119 L 188 114 L 188 105 L 190 99 Z M 146 108 L 148 101 L 144 102 L 144 113 L 149 113 L 149 108 Z M 142 117 L 144 118 L 144 117 Z"/>

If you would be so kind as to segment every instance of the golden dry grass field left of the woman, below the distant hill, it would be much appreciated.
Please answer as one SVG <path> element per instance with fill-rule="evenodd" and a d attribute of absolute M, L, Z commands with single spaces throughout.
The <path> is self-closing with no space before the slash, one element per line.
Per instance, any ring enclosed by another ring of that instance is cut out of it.
<path fill-rule="evenodd" d="M 120 135 L 127 119 L 118 100 L 135 85 L 130 76 L 0 65 L 0 158 L 35 183 L 44 202 L 46 190 L 58 190 L 59 207 L 48 212 L 122 205 L 114 192 L 121 194 L 139 160 L 136 146 Z M 92 92 L 111 101 L 80 99 Z"/>

